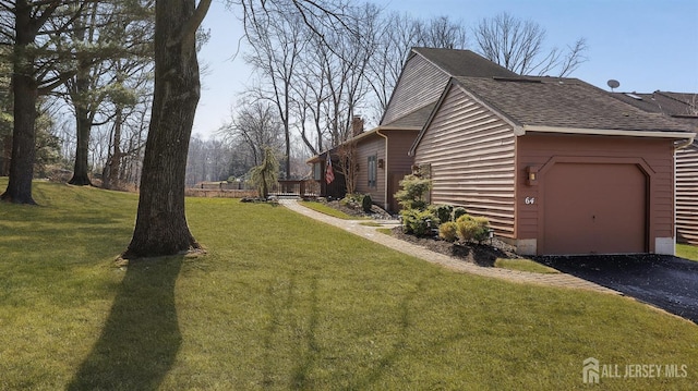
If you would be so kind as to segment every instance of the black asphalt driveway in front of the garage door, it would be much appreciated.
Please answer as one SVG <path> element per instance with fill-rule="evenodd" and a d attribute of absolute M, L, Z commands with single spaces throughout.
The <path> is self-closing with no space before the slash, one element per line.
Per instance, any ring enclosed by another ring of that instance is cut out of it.
<path fill-rule="evenodd" d="M 535 259 L 698 323 L 698 262 L 659 255 Z"/>

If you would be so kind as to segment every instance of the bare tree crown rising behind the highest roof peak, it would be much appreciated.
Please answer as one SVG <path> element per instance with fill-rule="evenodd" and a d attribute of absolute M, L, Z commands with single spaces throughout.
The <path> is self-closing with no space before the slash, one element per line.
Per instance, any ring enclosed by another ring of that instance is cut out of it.
<path fill-rule="evenodd" d="M 587 42 L 579 38 L 567 51 L 545 49 L 545 29 L 532 21 L 521 21 L 503 12 L 492 19 L 483 19 L 473 28 L 477 51 L 490 61 L 518 74 L 545 75 L 555 72 L 566 76 L 587 61 Z"/>

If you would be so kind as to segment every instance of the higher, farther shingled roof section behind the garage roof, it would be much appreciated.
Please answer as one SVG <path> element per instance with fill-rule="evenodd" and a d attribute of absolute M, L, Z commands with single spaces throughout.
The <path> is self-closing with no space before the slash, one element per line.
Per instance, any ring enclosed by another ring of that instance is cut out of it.
<path fill-rule="evenodd" d="M 412 48 L 450 76 L 468 77 L 516 77 L 518 74 L 498 65 L 470 50 Z"/>

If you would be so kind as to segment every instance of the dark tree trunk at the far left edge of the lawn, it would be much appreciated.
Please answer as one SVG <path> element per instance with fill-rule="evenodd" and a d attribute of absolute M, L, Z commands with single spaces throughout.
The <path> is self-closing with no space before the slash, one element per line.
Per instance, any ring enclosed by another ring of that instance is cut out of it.
<path fill-rule="evenodd" d="M 32 8 L 26 1 L 17 1 L 15 13 L 15 45 L 12 73 L 14 93 L 14 129 L 12 131 L 12 160 L 10 181 L 0 197 L 15 204 L 35 205 L 32 197 L 34 157 L 36 155 L 36 102 L 38 85 L 34 80 L 34 58 L 28 46 L 34 42 Z"/>

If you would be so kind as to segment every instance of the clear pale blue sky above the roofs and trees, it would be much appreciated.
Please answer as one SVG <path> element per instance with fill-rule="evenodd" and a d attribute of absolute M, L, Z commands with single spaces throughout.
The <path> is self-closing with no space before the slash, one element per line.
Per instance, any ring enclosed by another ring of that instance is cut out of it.
<path fill-rule="evenodd" d="M 230 120 L 231 108 L 252 84 L 244 63 L 240 9 L 214 0 L 204 28 L 210 40 L 198 53 L 205 69 L 193 134 L 213 137 Z M 698 93 L 698 0 L 375 0 L 387 11 L 431 19 L 447 15 L 466 26 L 508 12 L 546 30 L 547 47 L 565 48 L 587 40 L 587 62 L 570 77 L 616 91 Z M 470 35 L 470 47 L 474 39 Z"/>

